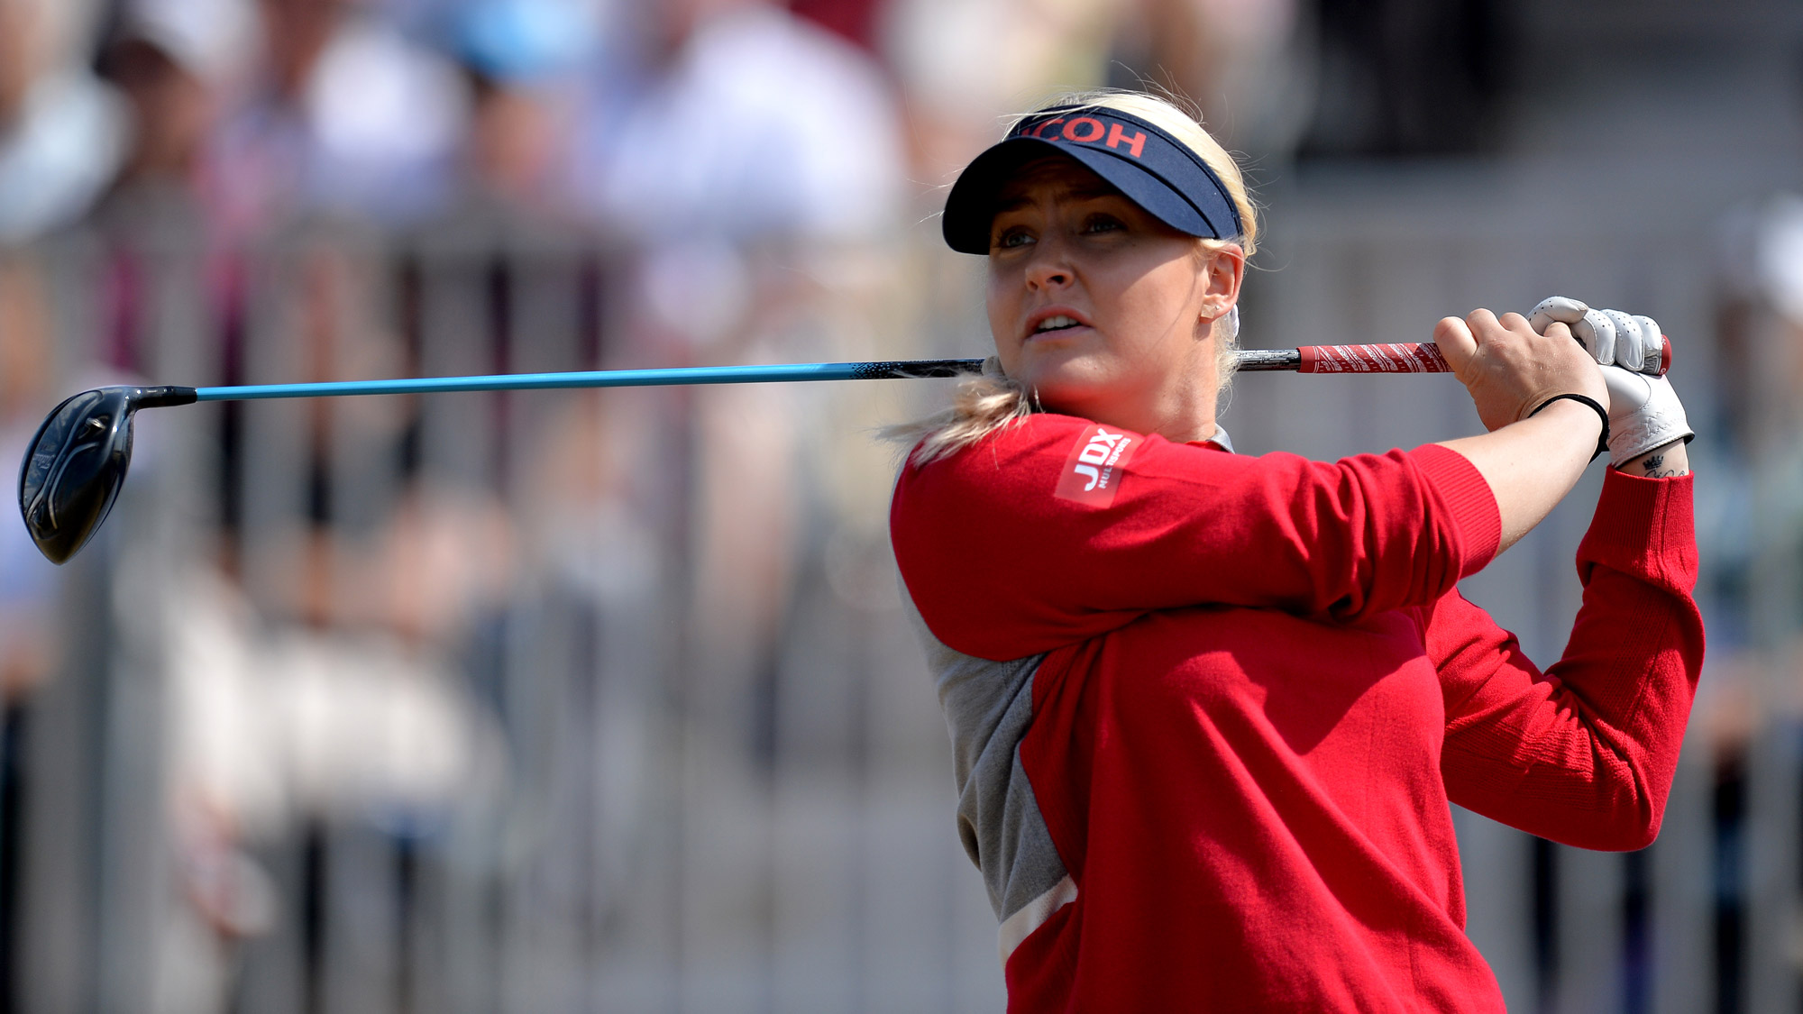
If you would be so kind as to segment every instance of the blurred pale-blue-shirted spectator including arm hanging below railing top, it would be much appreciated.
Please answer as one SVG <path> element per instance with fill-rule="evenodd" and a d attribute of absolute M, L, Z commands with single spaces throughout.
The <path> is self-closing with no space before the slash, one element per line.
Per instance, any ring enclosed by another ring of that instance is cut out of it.
<path fill-rule="evenodd" d="M 896 105 L 865 54 L 761 0 L 671 0 L 642 31 L 638 78 L 591 99 L 577 179 L 642 251 L 640 343 L 732 361 L 757 314 L 797 316 L 844 249 L 902 224 Z"/>

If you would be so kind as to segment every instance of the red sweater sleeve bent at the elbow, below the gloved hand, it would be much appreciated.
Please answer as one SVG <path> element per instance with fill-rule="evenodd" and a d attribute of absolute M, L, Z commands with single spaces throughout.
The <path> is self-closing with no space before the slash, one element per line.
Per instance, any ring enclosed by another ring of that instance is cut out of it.
<path fill-rule="evenodd" d="M 1659 834 L 1702 669 L 1691 476 L 1610 469 L 1578 577 L 1583 608 L 1545 673 L 1457 592 L 1433 606 L 1441 772 L 1453 803 L 1506 825 L 1581 848 L 1643 848 Z"/>

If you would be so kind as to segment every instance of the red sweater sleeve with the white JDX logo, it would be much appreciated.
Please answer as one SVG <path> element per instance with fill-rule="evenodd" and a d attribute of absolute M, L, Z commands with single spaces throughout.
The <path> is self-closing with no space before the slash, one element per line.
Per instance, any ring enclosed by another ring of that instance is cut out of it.
<path fill-rule="evenodd" d="M 1249 458 L 1035 415 L 909 466 L 891 539 L 945 644 L 1020 659 L 1152 610 L 1358 619 L 1426 606 L 1496 552 L 1484 478 L 1439 446 L 1336 464 Z"/>

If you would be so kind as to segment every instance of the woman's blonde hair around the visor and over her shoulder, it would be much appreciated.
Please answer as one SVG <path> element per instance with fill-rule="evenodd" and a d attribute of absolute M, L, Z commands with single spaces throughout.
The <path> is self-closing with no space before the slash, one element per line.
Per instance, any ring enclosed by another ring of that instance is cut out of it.
<path fill-rule="evenodd" d="M 1181 103 L 1181 105 L 1179 105 Z M 1123 92 L 1098 88 L 1087 92 L 1067 92 L 1031 112 L 1024 112 L 1008 123 L 1011 132 L 1022 119 L 1039 115 L 1055 106 L 1103 108 L 1136 115 L 1156 124 L 1179 144 L 1194 152 L 1226 188 L 1233 207 L 1239 211 L 1240 235 L 1230 240 L 1197 238 L 1197 253 L 1219 251 L 1237 245 L 1248 258 L 1258 249 L 1258 207 L 1246 191 L 1246 179 L 1240 175 L 1233 155 L 1203 128 L 1201 117 L 1186 108 L 1176 96 L 1147 96 L 1143 92 Z M 1006 134 L 1006 132 L 1004 132 Z M 1215 366 L 1224 393 L 1233 383 L 1233 366 L 1239 363 L 1239 309 L 1217 321 L 1215 328 Z M 952 455 L 1002 429 L 1020 422 L 1039 411 L 1039 399 L 1020 381 L 1002 372 L 1001 361 L 990 355 L 983 363 L 983 375 L 965 381 L 952 395 L 952 406 L 927 419 L 891 426 L 883 437 L 914 447 L 912 460 L 927 464 L 934 458 Z"/>

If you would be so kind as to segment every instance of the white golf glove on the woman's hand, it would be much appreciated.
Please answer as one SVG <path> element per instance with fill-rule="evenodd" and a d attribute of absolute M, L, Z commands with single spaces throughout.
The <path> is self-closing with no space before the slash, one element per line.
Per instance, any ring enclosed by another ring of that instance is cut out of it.
<path fill-rule="evenodd" d="M 1527 314 L 1529 327 L 1542 334 L 1552 321 L 1572 328 L 1578 343 L 1603 368 L 1612 466 L 1621 467 L 1653 447 L 1695 435 L 1671 383 L 1639 372 L 1643 364 L 1657 363 L 1664 352 L 1659 323 L 1621 310 L 1592 310 L 1567 296 L 1542 300 Z"/>

